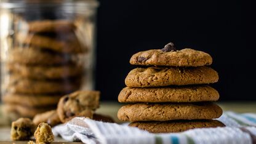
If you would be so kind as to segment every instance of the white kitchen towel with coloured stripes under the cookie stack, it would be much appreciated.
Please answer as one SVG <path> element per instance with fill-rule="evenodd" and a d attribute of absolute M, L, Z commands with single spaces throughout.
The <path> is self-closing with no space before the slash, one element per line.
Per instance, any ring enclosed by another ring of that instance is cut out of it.
<path fill-rule="evenodd" d="M 74 118 L 66 124 L 52 129 L 68 141 L 83 143 L 145 143 L 145 144 L 254 144 L 256 143 L 256 114 L 225 112 L 220 118 L 226 127 L 192 129 L 180 133 L 150 134 L 127 124 L 94 121 L 88 118 Z"/>

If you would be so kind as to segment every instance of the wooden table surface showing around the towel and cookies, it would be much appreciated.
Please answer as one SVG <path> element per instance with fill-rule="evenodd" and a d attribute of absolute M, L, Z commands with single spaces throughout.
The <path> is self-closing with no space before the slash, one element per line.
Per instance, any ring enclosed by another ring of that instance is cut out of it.
<path fill-rule="evenodd" d="M 234 111 L 237 113 L 256 113 L 256 102 L 218 102 L 223 109 L 223 111 Z M 116 114 L 122 104 L 117 102 L 101 102 L 100 108 L 97 113 L 108 114 L 114 118 L 116 122 L 121 122 L 118 120 Z M 0 107 L 1 108 L 1 107 Z M 1 143 L 27 143 L 27 142 L 12 142 L 10 140 L 10 122 L 4 118 L 0 113 L 0 144 Z M 66 142 L 60 137 L 55 138 L 54 143 L 70 143 Z M 78 144 L 79 142 L 73 142 Z"/>

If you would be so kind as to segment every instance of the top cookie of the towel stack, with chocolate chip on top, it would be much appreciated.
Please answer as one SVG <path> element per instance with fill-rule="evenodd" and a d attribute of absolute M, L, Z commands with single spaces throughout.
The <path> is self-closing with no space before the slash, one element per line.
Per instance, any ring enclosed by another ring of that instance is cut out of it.
<path fill-rule="evenodd" d="M 169 43 L 170 44 L 170 43 Z M 193 49 L 153 49 L 138 52 L 130 58 L 132 65 L 160 66 L 204 66 L 212 64 L 212 57 L 205 52 Z"/>

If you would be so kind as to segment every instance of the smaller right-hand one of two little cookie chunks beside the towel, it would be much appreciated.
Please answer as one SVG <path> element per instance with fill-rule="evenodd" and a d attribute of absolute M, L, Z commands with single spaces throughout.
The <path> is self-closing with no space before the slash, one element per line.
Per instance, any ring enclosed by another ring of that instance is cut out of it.
<path fill-rule="evenodd" d="M 36 132 L 34 132 L 34 138 L 36 139 L 36 143 L 51 143 L 54 141 L 54 134 L 52 134 L 52 128 L 49 124 L 42 122 L 36 128 Z"/>

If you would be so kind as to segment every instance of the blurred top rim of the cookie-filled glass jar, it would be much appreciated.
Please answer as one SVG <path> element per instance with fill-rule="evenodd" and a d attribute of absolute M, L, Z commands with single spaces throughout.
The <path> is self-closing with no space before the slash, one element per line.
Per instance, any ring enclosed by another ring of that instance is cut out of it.
<path fill-rule="evenodd" d="M 62 7 L 98 7 L 97 0 L 2 0 L 0 7 L 14 9 L 33 6 L 62 6 Z"/>

